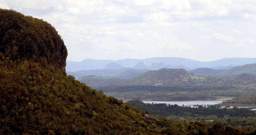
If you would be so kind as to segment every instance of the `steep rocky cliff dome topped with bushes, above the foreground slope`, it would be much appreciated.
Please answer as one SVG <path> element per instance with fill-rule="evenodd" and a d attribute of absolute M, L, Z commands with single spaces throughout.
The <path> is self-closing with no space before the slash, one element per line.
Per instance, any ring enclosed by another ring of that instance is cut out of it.
<path fill-rule="evenodd" d="M 46 58 L 65 72 L 68 52 L 58 32 L 42 19 L 0 9 L 0 52 L 13 60 Z"/>

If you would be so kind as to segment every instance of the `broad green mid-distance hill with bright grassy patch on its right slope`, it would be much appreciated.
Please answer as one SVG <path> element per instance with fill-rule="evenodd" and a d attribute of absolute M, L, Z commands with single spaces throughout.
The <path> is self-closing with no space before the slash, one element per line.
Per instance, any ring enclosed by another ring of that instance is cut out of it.
<path fill-rule="evenodd" d="M 205 81 L 205 77 L 195 76 L 185 69 L 150 70 L 132 79 L 116 79 L 109 77 L 82 77 L 80 82 L 84 82 L 93 88 L 106 86 L 130 86 L 130 85 L 150 85 L 150 86 L 189 86 L 197 82 Z"/>

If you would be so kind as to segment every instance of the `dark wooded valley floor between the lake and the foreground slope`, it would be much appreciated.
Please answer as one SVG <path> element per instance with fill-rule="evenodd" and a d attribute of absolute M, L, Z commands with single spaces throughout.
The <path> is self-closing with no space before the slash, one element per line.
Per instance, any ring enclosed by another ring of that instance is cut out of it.
<path fill-rule="evenodd" d="M 154 115 L 180 122 L 201 121 L 207 125 L 220 122 L 223 125 L 236 127 L 256 127 L 255 112 L 246 108 L 228 108 L 228 106 L 222 107 L 221 105 L 194 105 L 194 107 L 188 107 L 176 104 L 144 104 L 139 100 L 128 101 L 125 104 L 130 104 Z"/>

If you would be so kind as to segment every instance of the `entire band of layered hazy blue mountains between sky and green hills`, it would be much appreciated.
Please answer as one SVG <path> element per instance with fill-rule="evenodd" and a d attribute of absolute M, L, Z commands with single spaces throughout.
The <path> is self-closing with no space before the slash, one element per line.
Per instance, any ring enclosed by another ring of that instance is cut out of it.
<path fill-rule="evenodd" d="M 150 64 L 149 59 L 151 59 L 151 66 L 145 64 L 147 62 Z M 154 62 L 154 61 L 161 61 L 161 62 Z M 168 61 L 169 60 L 169 61 Z M 177 61 L 180 60 L 180 61 Z M 122 63 L 124 61 L 128 61 L 127 63 Z M 195 61 L 191 59 L 185 58 L 174 58 L 174 57 L 155 57 L 155 58 L 146 58 L 140 61 L 144 62 L 137 62 L 139 59 L 124 59 L 124 60 L 93 60 L 93 59 L 85 59 L 81 62 L 74 62 L 74 61 L 67 61 L 67 73 L 75 76 L 75 77 L 84 77 L 89 75 L 95 76 L 105 76 L 110 78 L 118 78 L 118 79 L 132 79 L 134 77 L 140 76 L 143 73 L 149 70 L 159 70 L 162 68 L 170 68 L 170 69 L 185 69 L 190 73 L 194 73 L 195 75 L 201 76 L 238 76 L 242 73 L 250 73 L 254 74 L 254 65 L 250 66 L 250 63 L 256 63 L 256 58 L 223 58 L 217 61 L 209 61 L 209 62 L 202 62 L 202 61 Z M 164 63 L 164 62 L 165 63 Z M 107 62 L 117 62 L 117 63 L 107 63 Z M 135 64 L 132 66 L 131 64 Z M 107 63 L 107 64 L 106 64 Z M 169 63 L 169 64 L 166 64 Z M 172 63 L 172 64 L 170 64 Z M 197 63 L 198 65 L 195 65 Z M 105 65 L 103 65 L 105 64 Z M 125 67 L 130 66 L 130 67 Z M 173 66 L 173 65 L 177 66 Z M 183 64 L 183 65 L 178 65 Z M 236 67 L 236 65 L 245 65 L 243 67 Z M 92 65 L 92 66 L 89 66 Z M 187 66 L 184 66 L 187 65 Z M 202 66 L 202 67 L 201 67 Z M 199 67 L 194 68 L 193 67 Z M 211 67 L 211 68 L 209 68 Z M 234 68 L 235 67 L 235 68 Z M 90 70 L 78 70 L 78 69 L 88 69 L 88 68 L 99 68 L 99 69 L 90 69 Z M 232 69 L 232 70 L 230 70 Z M 71 72 L 70 70 L 78 70 L 75 72 Z"/>

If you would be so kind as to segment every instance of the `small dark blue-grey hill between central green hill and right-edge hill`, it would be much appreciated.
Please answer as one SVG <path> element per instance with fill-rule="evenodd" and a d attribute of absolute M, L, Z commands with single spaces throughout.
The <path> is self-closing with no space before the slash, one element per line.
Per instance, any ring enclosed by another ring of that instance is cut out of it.
<path fill-rule="evenodd" d="M 215 70 L 211 68 L 197 68 L 195 70 L 189 71 L 190 73 L 194 73 L 196 75 L 203 75 L 203 76 L 208 76 L 208 75 L 216 75 L 218 73 L 222 73 L 226 70 Z"/>

